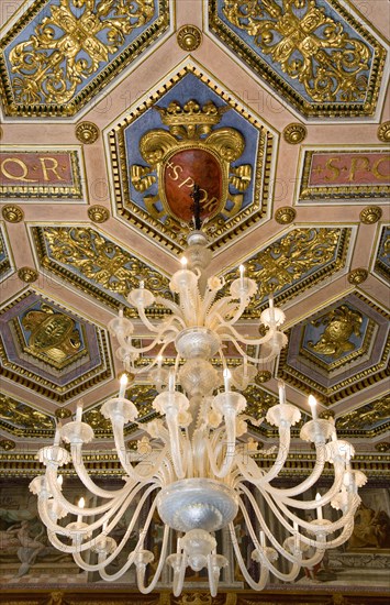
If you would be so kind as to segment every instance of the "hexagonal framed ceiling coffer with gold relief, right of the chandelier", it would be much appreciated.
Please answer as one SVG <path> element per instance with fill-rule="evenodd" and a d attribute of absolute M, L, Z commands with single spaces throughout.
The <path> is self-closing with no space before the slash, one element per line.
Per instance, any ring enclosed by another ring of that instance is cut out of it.
<path fill-rule="evenodd" d="M 349 294 L 288 332 L 278 376 L 332 405 L 389 375 L 389 316 L 359 293 Z"/>

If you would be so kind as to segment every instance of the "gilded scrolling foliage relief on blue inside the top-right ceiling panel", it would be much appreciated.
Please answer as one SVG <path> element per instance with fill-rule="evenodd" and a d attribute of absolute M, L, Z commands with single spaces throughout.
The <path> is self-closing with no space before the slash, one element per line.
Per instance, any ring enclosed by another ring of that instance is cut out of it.
<path fill-rule="evenodd" d="M 314 101 L 365 99 L 370 50 L 326 14 L 317 0 L 226 1 L 223 12 Z"/>

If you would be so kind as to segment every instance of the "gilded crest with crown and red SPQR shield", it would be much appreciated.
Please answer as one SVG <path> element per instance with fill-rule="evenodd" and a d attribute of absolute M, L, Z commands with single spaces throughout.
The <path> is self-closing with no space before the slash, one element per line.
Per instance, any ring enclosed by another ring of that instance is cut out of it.
<path fill-rule="evenodd" d="M 132 185 L 145 193 L 148 213 L 155 219 L 167 213 L 169 220 L 183 228 L 193 217 L 188 200 L 190 185 L 197 183 L 202 195 L 202 221 L 212 221 L 219 213 L 224 219 L 237 215 L 253 169 L 250 164 L 232 165 L 245 151 L 242 133 L 230 127 L 214 128 L 231 107 L 218 107 L 213 101 L 200 105 L 191 99 L 183 106 L 171 101 L 167 108 L 155 109 L 169 131 L 146 132 L 140 141 L 140 153 L 147 166 L 131 166 Z M 158 195 L 152 195 L 155 183 Z M 230 186 L 238 193 L 233 194 Z"/>

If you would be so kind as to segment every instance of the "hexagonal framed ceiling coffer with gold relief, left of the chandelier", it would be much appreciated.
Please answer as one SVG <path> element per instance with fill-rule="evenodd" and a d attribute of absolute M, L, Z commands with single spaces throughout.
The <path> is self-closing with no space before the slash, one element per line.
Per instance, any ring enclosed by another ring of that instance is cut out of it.
<path fill-rule="evenodd" d="M 105 330 L 35 292 L 1 311 L 3 377 L 64 404 L 112 377 Z"/>

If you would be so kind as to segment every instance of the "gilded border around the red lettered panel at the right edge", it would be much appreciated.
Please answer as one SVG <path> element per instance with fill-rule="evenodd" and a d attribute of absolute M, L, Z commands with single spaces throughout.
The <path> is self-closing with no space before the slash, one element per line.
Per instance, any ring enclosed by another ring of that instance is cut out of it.
<path fill-rule="evenodd" d="M 311 175 L 311 167 L 312 167 L 312 161 L 313 156 L 315 154 L 321 155 L 343 155 L 343 154 L 370 154 L 370 153 L 389 153 L 389 150 L 387 147 L 378 147 L 372 148 L 371 146 L 365 150 L 364 147 L 359 148 L 348 148 L 348 150 L 341 150 L 339 147 L 333 147 L 326 146 L 325 148 L 303 148 L 302 150 L 302 157 L 299 162 L 299 173 L 300 173 L 300 179 L 298 180 L 300 183 L 300 189 L 298 191 L 297 196 L 297 204 L 302 204 L 307 201 L 322 201 L 324 204 L 328 204 L 331 200 L 341 200 L 343 204 L 348 202 L 348 200 L 353 204 L 356 202 L 356 198 L 359 199 L 360 204 L 367 204 L 367 200 L 375 200 L 375 199 L 387 199 L 387 197 L 390 195 L 390 186 L 388 185 L 354 185 L 354 186 L 347 186 L 347 185 L 330 185 L 328 187 L 325 186 L 309 186 L 309 179 Z"/>

